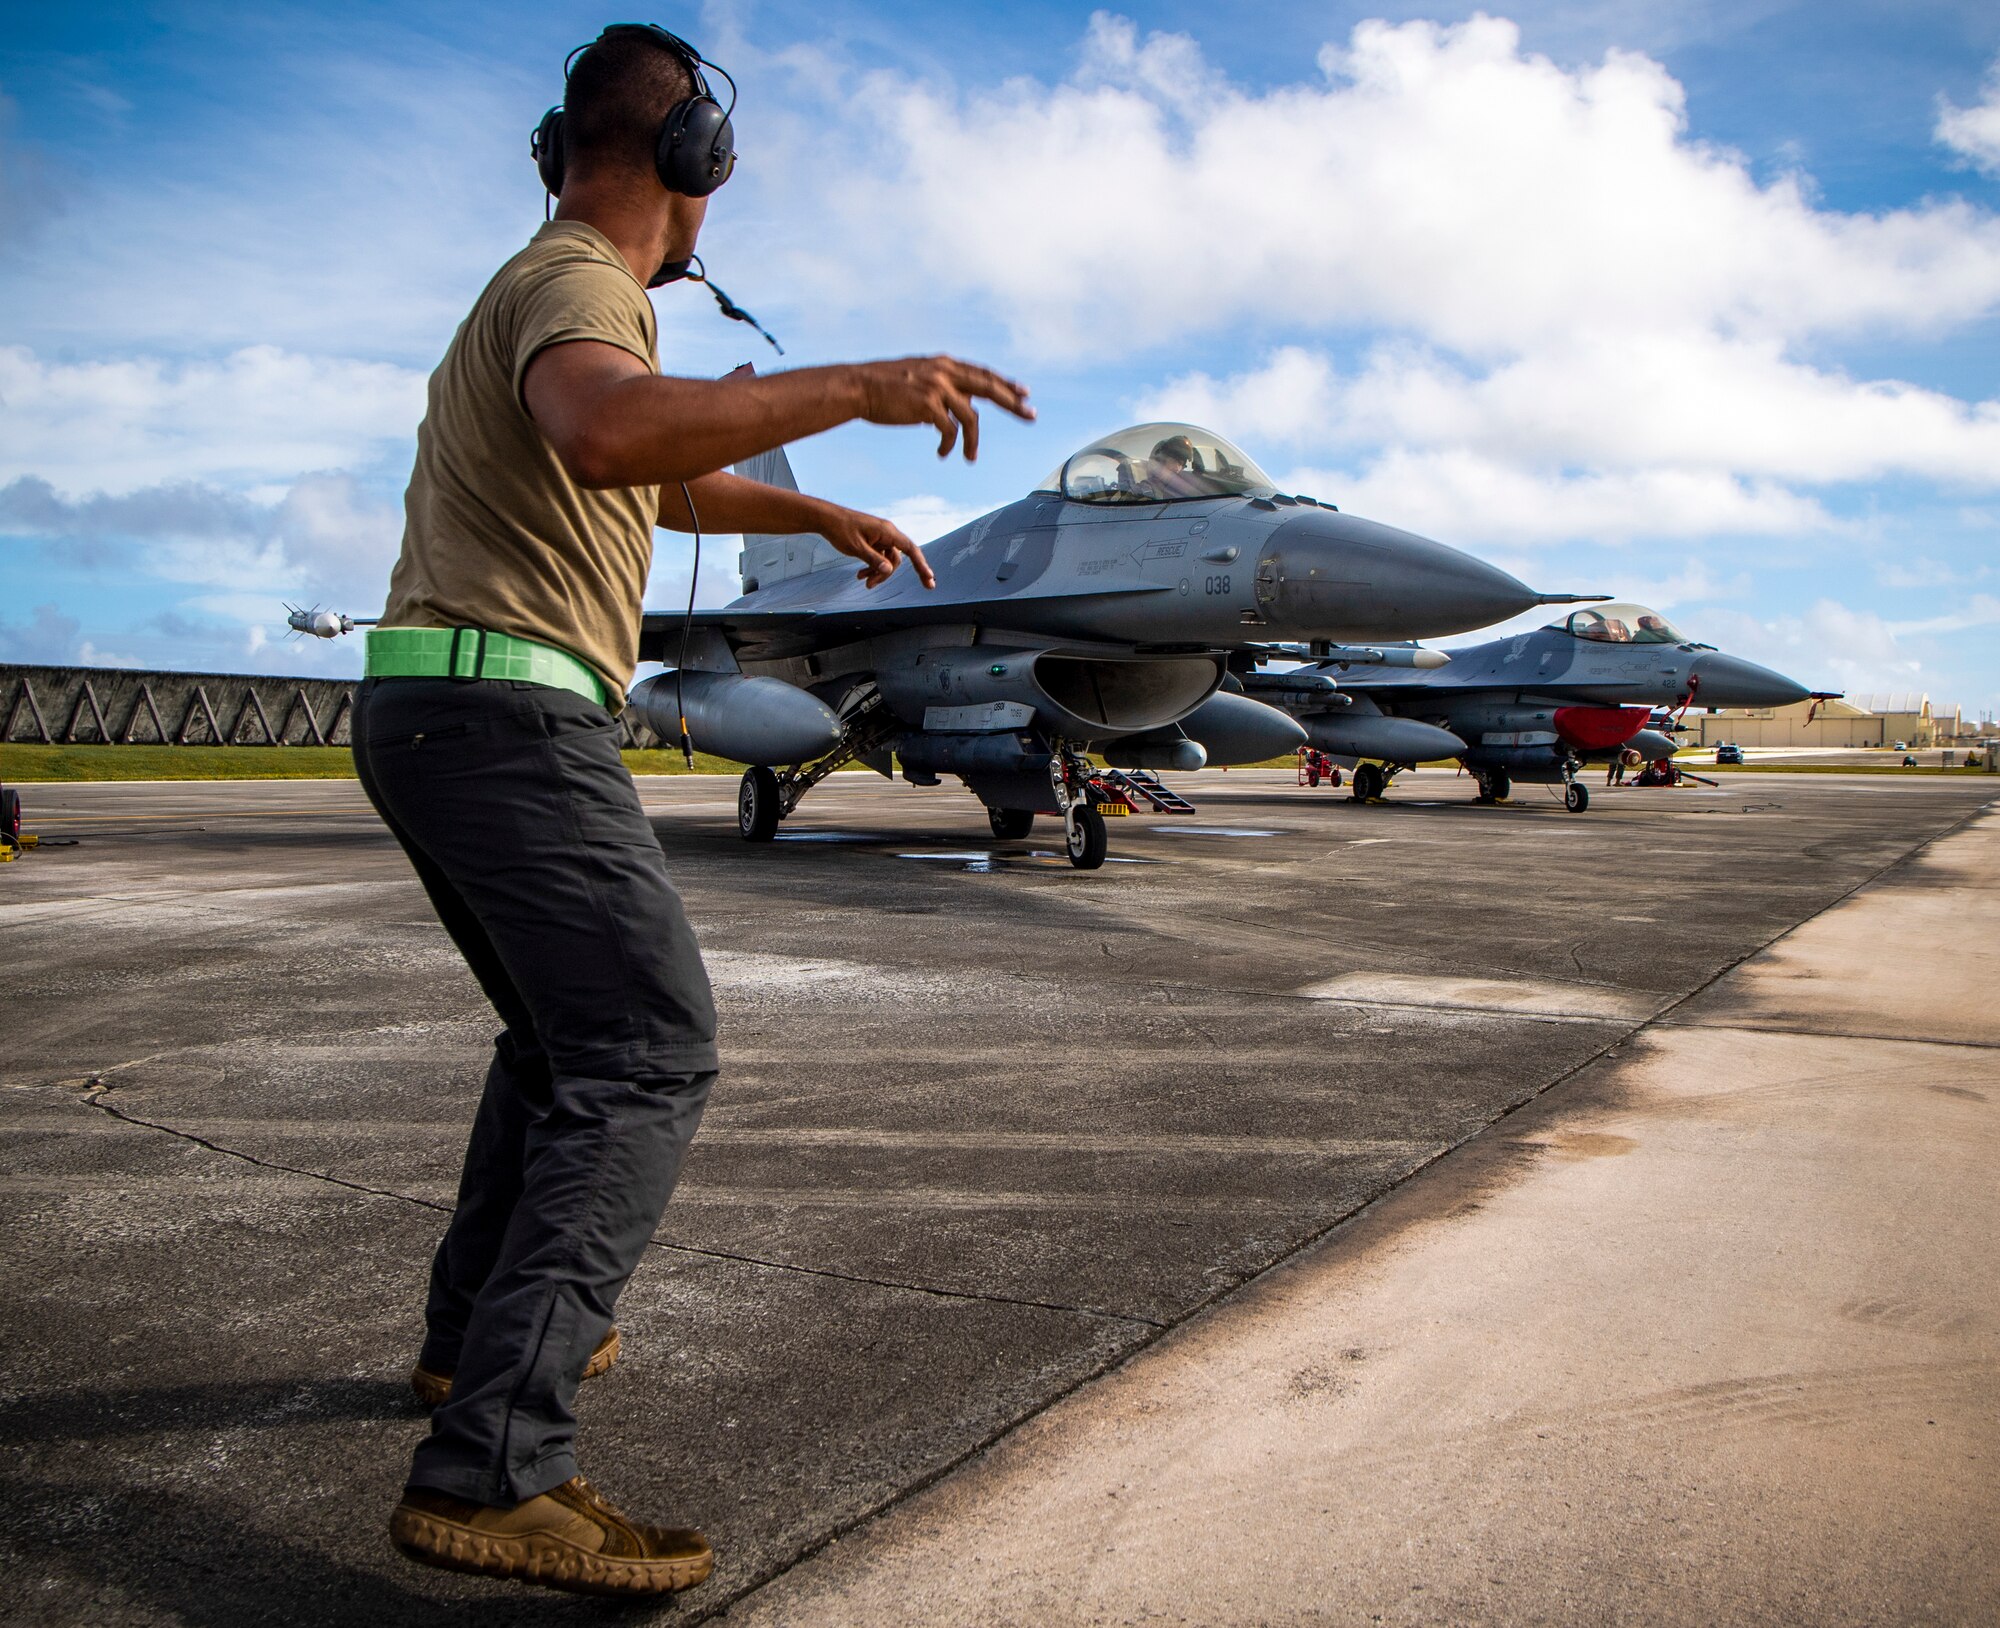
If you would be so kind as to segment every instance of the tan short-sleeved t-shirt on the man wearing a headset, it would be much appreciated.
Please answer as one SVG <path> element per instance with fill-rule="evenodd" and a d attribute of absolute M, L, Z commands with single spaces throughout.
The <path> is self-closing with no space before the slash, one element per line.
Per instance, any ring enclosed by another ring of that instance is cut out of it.
<path fill-rule="evenodd" d="M 554 644 L 598 672 L 616 712 L 638 662 L 660 488 L 578 486 L 528 416 L 528 364 L 566 340 L 660 370 L 646 290 L 578 220 L 550 222 L 494 274 L 430 376 L 382 626 Z"/>

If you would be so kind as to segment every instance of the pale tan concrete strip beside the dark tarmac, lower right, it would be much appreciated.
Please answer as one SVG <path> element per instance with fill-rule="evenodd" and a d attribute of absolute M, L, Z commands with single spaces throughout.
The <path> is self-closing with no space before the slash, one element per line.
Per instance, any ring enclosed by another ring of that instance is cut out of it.
<path fill-rule="evenodd" d="M 2000 1622 L 1994 990 L 1986 816 L 742 1622 Z"/>

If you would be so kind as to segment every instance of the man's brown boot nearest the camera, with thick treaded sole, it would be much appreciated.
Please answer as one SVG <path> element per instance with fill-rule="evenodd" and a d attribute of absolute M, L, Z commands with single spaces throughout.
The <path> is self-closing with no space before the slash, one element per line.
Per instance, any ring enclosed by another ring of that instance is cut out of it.
<path fill-rule="evenodd" d="M 388 1518 L 388 1536 L 424 1566 L 570 1594 L 672 1594 L 716 1566 L 708 1538 L 692 1526 L 642 1526 L 582 1476 L 510 1510 L 412 1486 Z"/>

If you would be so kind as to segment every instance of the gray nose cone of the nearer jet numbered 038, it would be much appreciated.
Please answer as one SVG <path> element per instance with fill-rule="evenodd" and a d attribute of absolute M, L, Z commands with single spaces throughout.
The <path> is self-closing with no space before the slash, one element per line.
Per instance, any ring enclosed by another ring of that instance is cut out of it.
<path fill-rule="evenodd" d="M 1300 638 L 1434 638 L 1536 604 L 1504 570 L 1354 514 L 1282 524 L 1258 562 L 1258 608 Z"/>

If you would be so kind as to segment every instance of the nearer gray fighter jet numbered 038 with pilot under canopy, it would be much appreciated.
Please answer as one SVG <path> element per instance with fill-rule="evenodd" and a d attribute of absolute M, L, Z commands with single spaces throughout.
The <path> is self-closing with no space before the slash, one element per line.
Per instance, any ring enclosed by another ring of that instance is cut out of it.
<path fill-rule="evenodd" d="M 738 472 L 794 486 L 784 452 Z M 750 764 L 750 842 L 832 770 L 900 764 L 918 786 L 960 778 L 1000 838 L 1060 816 L 1070 862 L 1094 868 L 1106 814 L 1192 810 L 1154 770 L 1258 762 L 1306 740 L 1284 708 L 1224 684 L 1232 648 L 1316 640 L 1370 660 L 1380 652 L 1346 642 L 1576 598 L 1280 492 L 1194 424 L 1096 440 L 928 554 L 936 590 L 914 572 L 870 590 L 822 538 L 750 536 L 742 598 L 646 618 L 640 656 L 670 672 L 638 684 L 632 706 L 668 742 Z"/>

